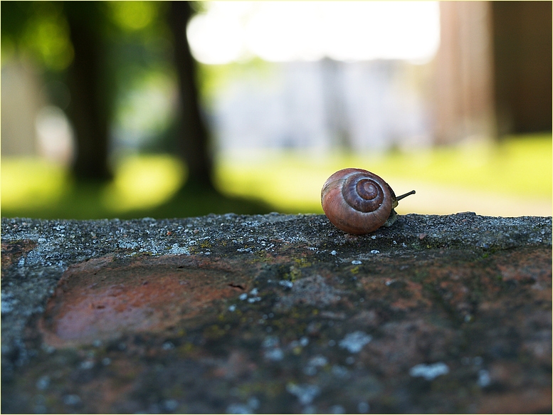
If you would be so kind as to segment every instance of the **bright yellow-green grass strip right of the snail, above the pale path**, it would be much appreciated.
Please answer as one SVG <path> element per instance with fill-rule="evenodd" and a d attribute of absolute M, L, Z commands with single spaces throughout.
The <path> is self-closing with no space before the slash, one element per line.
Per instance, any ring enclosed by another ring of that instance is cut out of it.
<path fill-rule="evenodd" d="M 355 157 L 354 157 L 355 159 Z M 359 162 L 362 157 L 357 157 Z M 515 196 L 552 196 L 552 139 L 507 139 L 367 160 L 389 177 L 410 177 L 468 190 Z"/>

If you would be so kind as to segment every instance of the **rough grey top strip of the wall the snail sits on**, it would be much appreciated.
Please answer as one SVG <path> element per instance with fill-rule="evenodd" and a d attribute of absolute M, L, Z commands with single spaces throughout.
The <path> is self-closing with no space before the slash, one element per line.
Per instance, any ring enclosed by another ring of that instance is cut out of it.
<path fill-rule="evenodd" d="M 362 243 L 381 253 L 423 248 L 505 249 L 551 246 L 552 218 L 502 218 L 471 212 L 447 216 L 408 214 L 391 228 L 352 236 L 332 226 L 324 215 L 208 215 L 186 219 L 152 218 L 122 221 L 44 221 L 2 219 L 4 242 L 33 241 L 26 261 L 48 259 L 51 266 L 127 252 L 180 253 L 268 252 L 281 244 L 304 244 L 321 253 L 349 243 Z M 225 243 L 221 244 L 221 241 Z M 369 250 L 370 251 L 370 250 Z"/>

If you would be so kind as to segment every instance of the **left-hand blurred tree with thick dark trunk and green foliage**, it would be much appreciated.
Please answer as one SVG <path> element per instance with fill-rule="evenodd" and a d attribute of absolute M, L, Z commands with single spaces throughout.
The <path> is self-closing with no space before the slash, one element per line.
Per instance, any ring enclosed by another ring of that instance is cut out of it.
<path fill-rule="evenodd" d="M 3 2 L 1 47 L 3 58 L 31 56 L 44 70 L 45 80 L 67 83 L 70 102 L 65 110 L 75 130 L 77 152 L 73 173 L 77 179 L 103 181 L 111 177 L 107 148 L 113 97 L 107 94 L 101 3 Z"/>

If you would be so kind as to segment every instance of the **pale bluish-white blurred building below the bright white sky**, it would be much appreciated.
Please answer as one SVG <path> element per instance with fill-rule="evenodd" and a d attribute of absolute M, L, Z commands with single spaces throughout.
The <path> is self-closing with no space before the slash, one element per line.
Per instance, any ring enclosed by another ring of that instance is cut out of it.
<path fill-rule="evenodd" d="M 431 144 L 428 100 L 408 63 L 274 63 L 271 75 L 221 90 L 213 120 L 222 149 L 384 149 Z"/>

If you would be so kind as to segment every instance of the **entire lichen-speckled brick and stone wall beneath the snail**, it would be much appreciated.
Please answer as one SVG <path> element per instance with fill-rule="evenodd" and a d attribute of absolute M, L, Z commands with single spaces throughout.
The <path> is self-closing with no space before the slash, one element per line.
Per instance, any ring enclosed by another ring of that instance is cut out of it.
<path fill-rule="evenodd" d="M 552 219 L 1 222 L 3 413 L 551 413 Z"/>

